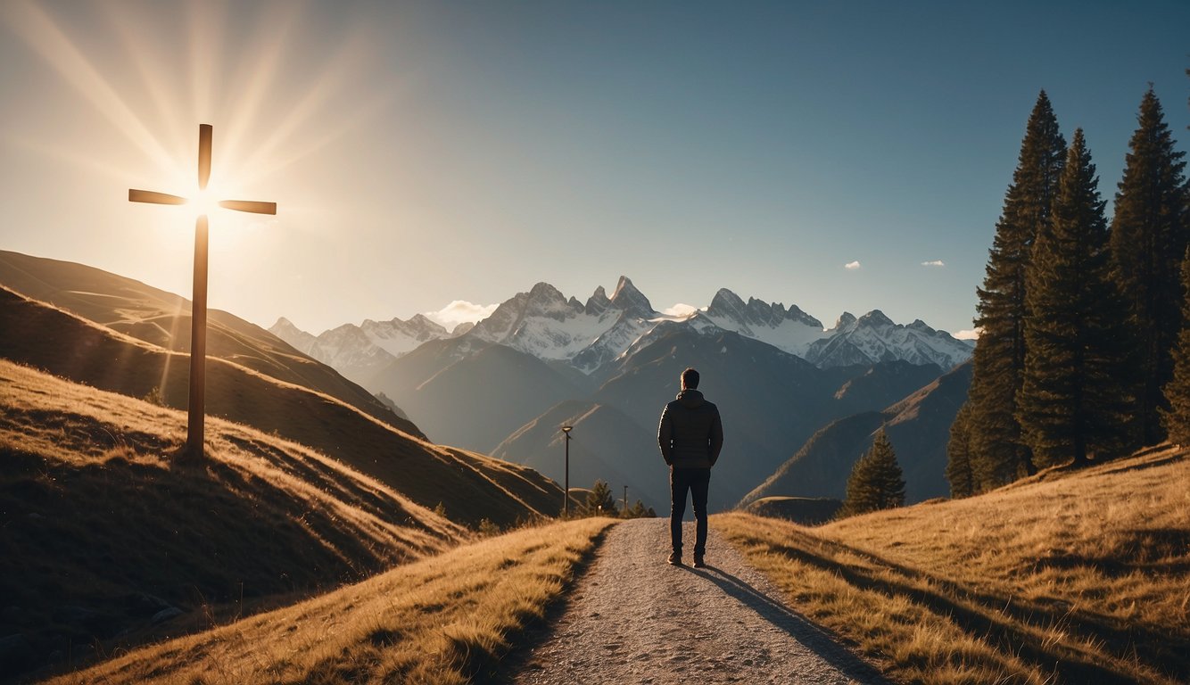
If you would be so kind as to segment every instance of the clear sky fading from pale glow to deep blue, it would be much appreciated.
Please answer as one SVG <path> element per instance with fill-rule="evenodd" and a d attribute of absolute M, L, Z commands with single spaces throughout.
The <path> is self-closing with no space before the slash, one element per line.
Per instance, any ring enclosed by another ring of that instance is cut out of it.
<path fill-rule="evenodd" d="M 971 328 L 1045 89 L 1110 200 L 1148 82 L 1188 149 L 1190 2 L 0 4 L 0 249 L 319 333 L 630 276 L 827 326 Z M 1110 212 L 1110 205 L 1109 205 Z M 847 268 L 851 265 L 851 268 Z"/>

